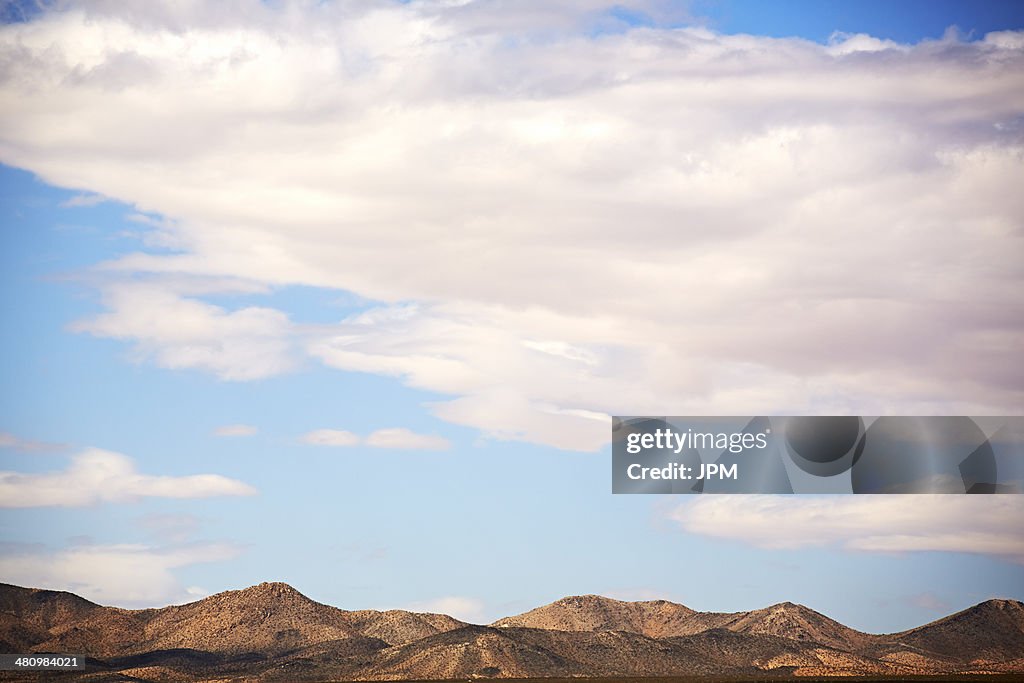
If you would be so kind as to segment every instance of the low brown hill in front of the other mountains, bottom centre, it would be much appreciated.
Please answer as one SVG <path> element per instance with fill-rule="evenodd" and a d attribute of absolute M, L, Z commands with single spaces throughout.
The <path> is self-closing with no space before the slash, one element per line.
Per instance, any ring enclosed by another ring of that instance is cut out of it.
<path fill-rule="evenodd" d="M 648 638 L 626 631 L 559 631 L 470 626 L 345 657 L 327 643 L 284 657 L 261 681 L 455 680 L 473 678 L 649 678 L 725 676 L 894 676 L 929 669 L 769 635 L 711 629 Z"/>

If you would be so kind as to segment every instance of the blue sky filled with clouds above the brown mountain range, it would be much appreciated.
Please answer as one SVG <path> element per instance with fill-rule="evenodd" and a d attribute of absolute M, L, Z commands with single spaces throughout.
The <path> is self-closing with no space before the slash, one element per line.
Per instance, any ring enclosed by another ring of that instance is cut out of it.
<path fill-rule="evenodd" d="M 893 632 L 1016 496 L 613 496 L 613 415 L 1020 415 L 1013 2 L 6 3 L 0 581 Z"/>

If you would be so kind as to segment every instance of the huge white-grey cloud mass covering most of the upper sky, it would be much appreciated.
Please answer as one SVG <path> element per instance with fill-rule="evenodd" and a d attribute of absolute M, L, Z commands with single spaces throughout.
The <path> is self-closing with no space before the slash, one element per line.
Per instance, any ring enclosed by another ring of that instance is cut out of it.
<path fill-rule="evenodd" d="M 1024 404 L 1020 33 L 591 32 L 596 0 L 62 7 L 0 28 L 0 160 L 172 219 L 76 327 L 162 367 L 317 358 L 567 449 L 616 413 Z M 302 326 L 154 273 L 379 304 Z"/>

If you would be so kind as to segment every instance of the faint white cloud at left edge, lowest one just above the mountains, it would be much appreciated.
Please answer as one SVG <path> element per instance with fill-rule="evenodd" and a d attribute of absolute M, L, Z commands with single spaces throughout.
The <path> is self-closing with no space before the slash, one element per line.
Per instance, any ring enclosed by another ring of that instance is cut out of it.
<path fill-rule="evenodd" d="M 103 605 L 163 607 L 205 594 L 202 589 L 183 587 L 174 569 L 228 560 L 240 552 L 238 546 L 225 543 L 164 548 L 80 545 L 57 551 L 10 546 L 0 555 L 0 578 L 18 586 L 71 591 Z"/>

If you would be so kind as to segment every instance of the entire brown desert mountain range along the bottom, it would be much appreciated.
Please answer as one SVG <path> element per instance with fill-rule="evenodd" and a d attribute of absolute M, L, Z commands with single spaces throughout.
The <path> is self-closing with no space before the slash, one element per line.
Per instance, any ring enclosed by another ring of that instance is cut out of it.
<path fill-rule="evenodd" d="M 0 584 L 0 651 L 88 657 L 85 671 L 0 680 L 96 683 L 1021 680 L 1024 605 L 988 600 L 874 635 L 790 602 L 727 613 L 586 595 L 476 626 L 444 614 L 347 611 L 286 584 L 139 610 Z"/>

